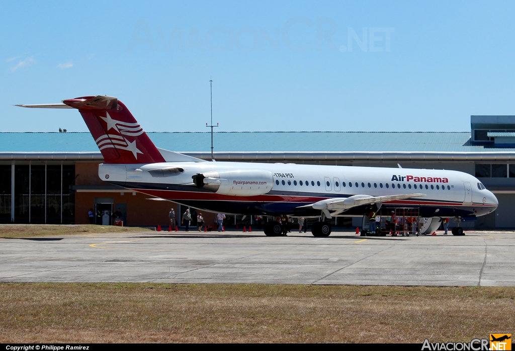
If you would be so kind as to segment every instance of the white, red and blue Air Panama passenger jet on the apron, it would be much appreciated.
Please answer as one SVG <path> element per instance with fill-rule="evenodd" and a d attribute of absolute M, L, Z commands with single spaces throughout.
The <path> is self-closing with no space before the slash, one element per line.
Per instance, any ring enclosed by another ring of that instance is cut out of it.
<path fill-rule="evenodd" d="M 160 149 L 115 97 L 16 106 L 79 110 L 104 156 L 98 167 L 103 181 L 209 212 L 318 218 L 316 237 L 331 234 L 327 219 L 363 216 L 371 205 L 474 220 L 499 204 L 478 179 L 453 170 L 210 162 Z M 265 224 L 267 236 L 281 231 L 279 222 Z M 463 235 L 460 227 L 452 233 Z"/>

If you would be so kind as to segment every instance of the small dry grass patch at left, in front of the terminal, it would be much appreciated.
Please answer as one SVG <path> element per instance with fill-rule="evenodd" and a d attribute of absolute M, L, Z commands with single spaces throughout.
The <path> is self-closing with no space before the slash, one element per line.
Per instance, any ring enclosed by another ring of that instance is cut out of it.
<path fill-rule="evenodd" d="M 88 233 L 127 233 L 144 231 L 149 231 L 149 229 L 92 224 L 0 224 L 0 238 L 28 238 Z"/>

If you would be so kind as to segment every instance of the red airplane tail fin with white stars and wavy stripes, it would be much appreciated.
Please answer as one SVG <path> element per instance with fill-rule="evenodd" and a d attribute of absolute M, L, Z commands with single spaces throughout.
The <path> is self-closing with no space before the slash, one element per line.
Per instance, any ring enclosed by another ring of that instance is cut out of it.
<path fill-rule="evenodd" d="M 140 124 L 115 97 L 85 96 L 63 103 L 79 110 L 105 163 L 165 162 Z"/>

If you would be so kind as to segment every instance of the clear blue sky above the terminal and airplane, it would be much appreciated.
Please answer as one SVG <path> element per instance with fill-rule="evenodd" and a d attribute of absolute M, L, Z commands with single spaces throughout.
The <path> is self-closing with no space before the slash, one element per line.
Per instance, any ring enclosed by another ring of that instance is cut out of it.
<path fill-rule="evenodd" d="M 4 2 L 0 131 L 87 131 L 85 95 L 146 131 L 467 131 L 515 114 L 514 2 Z M 351 45 L 350 45 L 351 44 Z M 352 46 L 352 48 L 351 48 Z"/>

